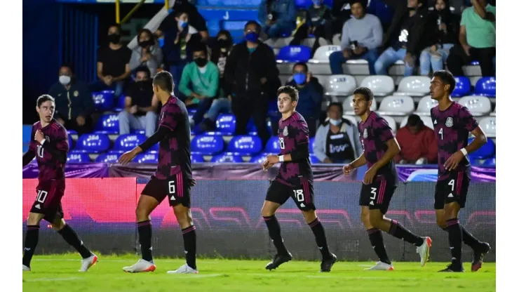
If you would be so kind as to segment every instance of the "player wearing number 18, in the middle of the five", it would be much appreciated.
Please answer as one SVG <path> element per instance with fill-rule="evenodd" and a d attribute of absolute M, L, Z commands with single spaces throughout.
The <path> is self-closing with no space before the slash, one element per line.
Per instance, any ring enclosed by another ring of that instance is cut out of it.
<path fill-rule="evenodd" d="M 298 100 L 297 89 L 292 86 L 278 88 L 278 109 L 281 112 L 278 138 L 281 154 L 267 156 L 267 160 L 262 164 L 263 169 L 267 170 L 281 162 L 278 175 L 267 190 L 262 208 L 263 219 L 277 250 L 274 260 L 267 264 L 266 269 L 274 270 L 292 260 L 292 255 L 283 244 L 281 228 L 274 215 L 276 210 L 292 197 L 316 237 L 317 246 L 323 256 L 321 272 L 330 272 L 332 265 L 337 262 L 337 257 L 330 253 L 324 227 L 316 216 L 314 173 L 309 160 L 309 131 L 303 116 L 295 111 Z"/>

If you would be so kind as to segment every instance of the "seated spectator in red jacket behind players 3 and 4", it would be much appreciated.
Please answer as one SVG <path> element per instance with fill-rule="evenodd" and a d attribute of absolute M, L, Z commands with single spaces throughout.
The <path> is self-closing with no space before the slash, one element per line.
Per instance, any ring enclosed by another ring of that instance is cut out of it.
<path fill-rule="evenodd" d="M 407 118 L 407 124 L 396 131 L 400 153 L 395 156 L 397 164 L 436 164 L 438 144 L 434 131 L 424 126 L 416 114 Z"/>

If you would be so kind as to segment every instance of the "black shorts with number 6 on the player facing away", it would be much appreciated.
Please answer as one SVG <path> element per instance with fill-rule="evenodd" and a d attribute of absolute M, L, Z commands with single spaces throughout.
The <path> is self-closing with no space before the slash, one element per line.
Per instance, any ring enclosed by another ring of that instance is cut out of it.
<path fill-rule="evenodd" d="M 159 180 L 152 176 L 140 194 L 154 197 L 159 204 L 168 197 L 170 206 L 182 204 L 187 208 L 191 207 L 191 187 L 184 180 L 182 173 L 177 173 L 166 180 Z"/>

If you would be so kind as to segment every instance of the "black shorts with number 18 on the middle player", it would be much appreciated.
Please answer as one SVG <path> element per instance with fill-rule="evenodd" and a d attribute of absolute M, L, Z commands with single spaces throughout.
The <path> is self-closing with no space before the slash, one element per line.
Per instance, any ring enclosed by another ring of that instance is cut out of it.
<path fill-rule="evenodd" d="M 273 201 L 280 205 L 285 204 L 288 198 L 292 197 L 297 208 L 301 211 L 315 210 L 314 204 L 314 182 L 302 178 L 295 187 L 285 185 L 278 180 L 272 180 L 267 190 L 265 201 Z"/>

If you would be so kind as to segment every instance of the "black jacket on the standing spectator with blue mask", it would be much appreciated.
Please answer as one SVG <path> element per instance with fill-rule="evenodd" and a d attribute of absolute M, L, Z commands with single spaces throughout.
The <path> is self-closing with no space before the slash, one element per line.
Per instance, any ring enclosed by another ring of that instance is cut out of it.
<path fill-rule="evenodd" d="M 266 84 L 261 83 L 262 78 L 267 78 Z M 276 86 L 281 85 L 274 52 L 262 42 L 252 53 L 249 53 L 246 41 L 236 44 L 227 57 L 224 82 L 238 97 L 261 93 L 271 95 Z"/>

